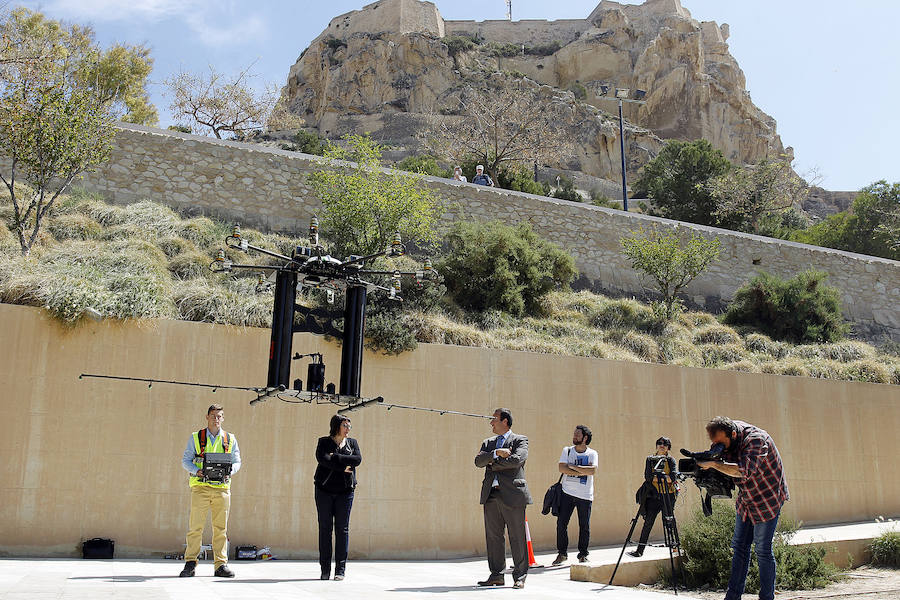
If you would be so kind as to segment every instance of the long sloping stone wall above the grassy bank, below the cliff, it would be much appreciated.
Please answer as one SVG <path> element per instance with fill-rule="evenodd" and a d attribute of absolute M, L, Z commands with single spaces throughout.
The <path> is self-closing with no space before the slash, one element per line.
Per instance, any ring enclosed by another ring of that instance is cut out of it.
<path fill-rule="evenodd" d="M 189 213 L 246 225 L 303 232 L 319 201 L 306 175 L 324 159 L 284 150 L 160 129 L 122 125 L 108 163 L 83 184 L 121 203 L 152 199 Z M 687 289 L 711 309 L 730 299 L 758 270 L 790 276 L 810 267 L 830 274 L 844 310 L 857 328 L 900 339 L 900 263 L 747 235 L 723 229 L 588 206 L 435 177 L 427 185 L 454 219 L 528 220 L 547 239 L 572 253 L 581 284 L 596 290 L 641 294 L 637 273 L 622 256 L 622 235 L 640 227 L 677 228 L 717 237 L 722 254 Z"/>

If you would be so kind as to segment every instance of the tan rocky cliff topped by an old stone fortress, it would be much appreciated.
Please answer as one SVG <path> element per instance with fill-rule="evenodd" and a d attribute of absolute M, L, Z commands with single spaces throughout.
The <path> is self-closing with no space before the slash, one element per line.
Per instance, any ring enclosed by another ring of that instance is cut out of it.
<path fill-rule="evenodd" d="M 286 94 L 323 135 L 371 131 L 415 147 L 426 115 L 446 111 L 461 86 L 524 74 L 571 90 L 597 115 L 596 127 L 572 132 L 574 155 L 549 166 L 616 179 L 617 106 L 596 92 L 639 88 L 646 104 L 625 107 L 631 169 L 664 139 L 703 137 L 738 163 L 790 156 L 774 119 L 750 100 L 727 39 L 727 25 L 692 19 L 679 0 L 604 0 L 583 20 L 522 22 L 445 21 L 430 2 L 380 0 L 333 19 L 291 67 Z"/>

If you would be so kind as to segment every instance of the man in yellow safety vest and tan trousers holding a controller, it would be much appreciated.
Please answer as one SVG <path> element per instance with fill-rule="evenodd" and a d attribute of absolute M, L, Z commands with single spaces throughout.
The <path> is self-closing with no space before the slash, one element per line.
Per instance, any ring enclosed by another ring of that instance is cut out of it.
<path fill-rule="evenodd" d="M 232 455 L 231 475 L 241 468 L 241 451 L 234 434 L 222 429 L 225 411 L 220 404 L 206 410 L 206 428 L 195 431 L 188 438 L 181 464 L 190 473 L 191 516 L 184 550 L 184 569 L 180 577 L 193 577 L 197 555 L 203 540 L 206 515 L 212 513 L 213 554 L 216 577 L 234 577 L 228 568 L 228 512 L 231 509 L 231 477 L 223 481 L 208 481 L 203 477 L 203 456 L 207 453 Z"/>

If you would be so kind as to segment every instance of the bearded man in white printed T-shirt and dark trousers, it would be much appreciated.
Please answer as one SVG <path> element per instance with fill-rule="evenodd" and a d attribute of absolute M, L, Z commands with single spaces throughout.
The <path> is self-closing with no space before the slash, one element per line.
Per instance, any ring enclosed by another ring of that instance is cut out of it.
<path fill-rule="evenodd" d="M 593 435 L 586 425 L 578 425 L 572 434 L 572 445 L 565 446 L 559 457 L 562 478 L 562 497 L 556 518 L 556 550 L 553 561 L 560 565 L 568 559 L 569 520 L 578 510 L 578 562 L 587 562 L 591 541 L 591 505 L 594 502 L 594 472 L 597 470 L 597 451 L 588 448 Z"/>

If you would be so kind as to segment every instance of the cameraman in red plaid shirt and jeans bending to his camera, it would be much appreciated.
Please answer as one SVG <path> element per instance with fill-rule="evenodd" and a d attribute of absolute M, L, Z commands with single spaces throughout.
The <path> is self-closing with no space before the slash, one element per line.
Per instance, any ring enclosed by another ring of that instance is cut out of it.
<path fill-rule="evenodd" d="M 701 469 L 715 469 L 738 481 L 737 518 L 731 547 L 731 577 L 725 600 L 740 600 L 750 568 L 750 544 L 756 547 L 760 600 L 775 598 L 775 555 L 772 538 L 782 505 L 790 498 L 781 455 L 764 430 L 728 417 L 706 424 L 713 444 L 723 444 L 723 461 L 698 461 Z"/>

